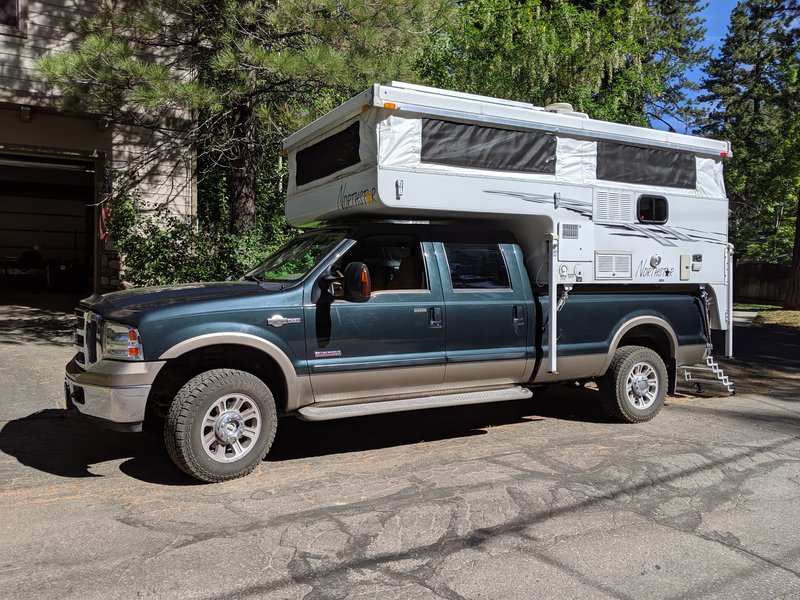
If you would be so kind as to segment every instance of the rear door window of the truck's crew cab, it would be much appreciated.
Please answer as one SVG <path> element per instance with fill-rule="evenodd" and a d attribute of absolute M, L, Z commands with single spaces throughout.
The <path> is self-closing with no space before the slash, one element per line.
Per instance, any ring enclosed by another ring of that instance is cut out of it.
<path fill-rule="evenodd" d="M 444 250 L 454 290 L 511 288 L 508 267 L 497 244 L 446 243 Z"/>

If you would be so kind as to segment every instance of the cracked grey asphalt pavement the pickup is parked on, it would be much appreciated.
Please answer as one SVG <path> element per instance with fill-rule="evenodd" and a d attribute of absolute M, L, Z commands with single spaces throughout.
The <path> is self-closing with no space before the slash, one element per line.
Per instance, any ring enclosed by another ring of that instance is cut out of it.
<path fill-rule="evenodd" d="M 640 425 L 567 387 L 283 419 L 254 474 L 203 485 L 67 417 L 63 321 L 23 308 L 0 307 L 0 597 L 800 596 L 796 378 Z"/>

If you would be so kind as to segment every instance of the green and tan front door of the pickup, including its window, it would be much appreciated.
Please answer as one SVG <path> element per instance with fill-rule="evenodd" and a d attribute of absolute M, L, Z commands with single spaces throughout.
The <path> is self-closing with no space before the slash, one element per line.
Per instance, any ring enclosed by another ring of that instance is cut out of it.
<path fill-rule="evenodd" d="M 372 295 L 349 302 L 336 291 L 305 307 L 306 347 L 316 402 L 425 396 L 444 379 L 442 285 L 423 234 L 376 234 L 332 265 L 367 265 Z"/>

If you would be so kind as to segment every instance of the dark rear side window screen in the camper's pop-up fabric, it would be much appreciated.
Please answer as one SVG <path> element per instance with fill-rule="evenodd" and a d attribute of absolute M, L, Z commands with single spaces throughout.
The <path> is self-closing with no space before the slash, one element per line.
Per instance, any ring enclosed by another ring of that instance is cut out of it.
<path fill-rule="evenodd" d="M 694 189 L 697 165 L 690 152 L 601 141 L 597 142 L 597 178 Z"/>

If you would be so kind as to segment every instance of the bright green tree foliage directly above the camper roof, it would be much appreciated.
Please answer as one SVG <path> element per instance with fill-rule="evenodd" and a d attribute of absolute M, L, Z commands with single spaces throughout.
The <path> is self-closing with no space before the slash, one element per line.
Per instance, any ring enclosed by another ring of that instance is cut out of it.
<path fill-rule="evenodd" d="M 688 118 L 685 72 L 707 51 L 697 0 L 473 0 L 428 40 L 421 75 L 445 88 L 646 125 Z"/>

